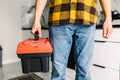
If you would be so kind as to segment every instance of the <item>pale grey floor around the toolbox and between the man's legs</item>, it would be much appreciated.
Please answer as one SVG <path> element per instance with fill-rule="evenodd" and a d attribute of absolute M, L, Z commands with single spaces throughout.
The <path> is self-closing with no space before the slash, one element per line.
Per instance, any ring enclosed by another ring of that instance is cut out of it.
<path fill-rule="evenodd" d="M 35 72 L 35 74 L 37 74 L 44 80 L 50 80 L 51 68 L 49 72 L 46 73 Z M 5 64 L 2 66 L 2 68 L 0 68 L 0 80 L 8 80 L 10 78 L 15 78 L 22 75 L 25 74 L 22 73 L 21 62 Z M 74 75 L 75 75 L 75 71 L 67 68 L 66 80 L 74 80 Z"/>

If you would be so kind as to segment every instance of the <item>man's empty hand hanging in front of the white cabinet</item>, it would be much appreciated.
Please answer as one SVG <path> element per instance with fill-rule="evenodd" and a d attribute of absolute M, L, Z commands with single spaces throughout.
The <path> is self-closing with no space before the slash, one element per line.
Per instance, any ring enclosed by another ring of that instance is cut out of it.
<path fill-rule="evenodd" d="M 103 23 L 103 37 L 108 39 L 113 32 L 112 28 L 112 22 L 111 21 L 105 21 Z"/>

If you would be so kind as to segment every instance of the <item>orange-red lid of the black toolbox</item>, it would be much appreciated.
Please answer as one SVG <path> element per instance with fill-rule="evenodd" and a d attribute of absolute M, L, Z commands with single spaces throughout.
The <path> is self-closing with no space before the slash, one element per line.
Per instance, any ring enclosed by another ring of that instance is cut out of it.
<path fill-rule="evenodd" d="M 40 38 L 39 40 L 26 39 L 17 46 L 17 54 L 37 54 L 52 53 L 52 46 L 48 38 Z"/>

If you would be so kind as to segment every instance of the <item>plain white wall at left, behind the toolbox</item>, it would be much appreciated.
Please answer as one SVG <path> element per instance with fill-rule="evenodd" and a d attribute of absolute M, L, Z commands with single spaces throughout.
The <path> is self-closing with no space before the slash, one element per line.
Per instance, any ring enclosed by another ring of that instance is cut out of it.
<path fill-rule="evenodd" d="M 0 0 L 0 45 L 3 64 L 18 61 L 16 47 L 22 40 L 21 7 L 30 0 Z"/>

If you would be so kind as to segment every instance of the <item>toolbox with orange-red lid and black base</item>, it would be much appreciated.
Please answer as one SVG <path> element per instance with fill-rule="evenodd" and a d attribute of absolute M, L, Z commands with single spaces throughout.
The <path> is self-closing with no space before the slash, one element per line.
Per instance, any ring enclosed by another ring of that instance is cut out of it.
<path fill-rule="evenodd" d="M 48 72 L 52 50 L 48 38 L 29 38 L 19 42 L 16 53 L 21 58 L 22 72 Z"/>

